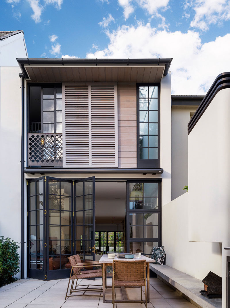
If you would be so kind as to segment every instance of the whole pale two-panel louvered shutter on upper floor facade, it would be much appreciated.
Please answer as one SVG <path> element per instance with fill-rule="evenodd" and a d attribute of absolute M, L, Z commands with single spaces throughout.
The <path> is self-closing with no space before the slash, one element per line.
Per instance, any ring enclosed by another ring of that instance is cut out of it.
<path fill-rule="evenodd" d="M 117 84 L 63 84 L 63 167 L 118 167 Z"/>

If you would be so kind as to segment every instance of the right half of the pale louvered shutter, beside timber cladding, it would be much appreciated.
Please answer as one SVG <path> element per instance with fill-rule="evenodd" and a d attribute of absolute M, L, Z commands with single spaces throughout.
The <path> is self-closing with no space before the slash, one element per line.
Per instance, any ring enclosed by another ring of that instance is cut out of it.
<path fill-rule="evenodd" d="M 117 164 L 116 107 L 113 85 L 91 86 L 92 166 Z"/>

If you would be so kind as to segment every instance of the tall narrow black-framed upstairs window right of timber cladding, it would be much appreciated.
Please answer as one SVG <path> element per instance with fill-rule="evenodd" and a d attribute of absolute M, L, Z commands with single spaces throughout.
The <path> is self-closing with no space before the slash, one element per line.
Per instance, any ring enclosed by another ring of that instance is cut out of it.
<path fill-rule="evenodd" d="M 137 84 L 137 166 L 159 168 L 159 84 Z"/>

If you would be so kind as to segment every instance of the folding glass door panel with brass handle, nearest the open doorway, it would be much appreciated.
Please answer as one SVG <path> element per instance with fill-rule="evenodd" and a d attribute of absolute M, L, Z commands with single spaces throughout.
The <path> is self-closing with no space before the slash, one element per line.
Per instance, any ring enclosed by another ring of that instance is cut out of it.
<path fill-rule="evenodd" d="M 95 177 L 75 181 L 75 254 L 82 261 L 95 260 Z"/>

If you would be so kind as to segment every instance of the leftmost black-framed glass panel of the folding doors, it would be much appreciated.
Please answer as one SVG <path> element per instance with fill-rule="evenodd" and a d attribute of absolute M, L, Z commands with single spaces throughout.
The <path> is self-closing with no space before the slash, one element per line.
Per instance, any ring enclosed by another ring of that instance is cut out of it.
<path fill-rule="evenodd" d="M 44 177 L 28 181 L 28 275 L 45 280 Z"/>

